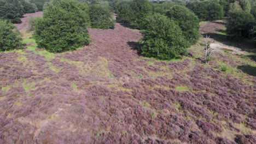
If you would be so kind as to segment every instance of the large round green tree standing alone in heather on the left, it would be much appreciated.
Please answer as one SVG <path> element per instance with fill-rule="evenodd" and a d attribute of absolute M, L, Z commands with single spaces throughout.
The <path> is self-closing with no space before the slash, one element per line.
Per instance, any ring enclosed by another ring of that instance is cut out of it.
<path fill-rule="evenodd" d="M 89 44 L 90 26 L 88 5 L 72 0 L 53 0 L 44 10 L 43 19 L 35 27 L 39 48 L 50 52 L 75 50 Z"/>

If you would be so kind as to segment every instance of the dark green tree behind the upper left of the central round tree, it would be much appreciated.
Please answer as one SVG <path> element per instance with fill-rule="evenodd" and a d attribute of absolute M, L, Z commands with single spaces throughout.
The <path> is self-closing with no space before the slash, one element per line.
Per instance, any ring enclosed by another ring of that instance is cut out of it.
<path fill-rule="evenodd" d="M 130 24 L 135 28 L 141 28 L 141 24 L 145 17 L 151 13 L 151 5 L 148 0 L 133 0 L 130 3 L 132 9 Z"/>

